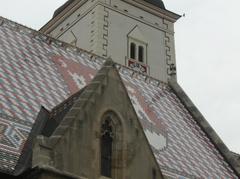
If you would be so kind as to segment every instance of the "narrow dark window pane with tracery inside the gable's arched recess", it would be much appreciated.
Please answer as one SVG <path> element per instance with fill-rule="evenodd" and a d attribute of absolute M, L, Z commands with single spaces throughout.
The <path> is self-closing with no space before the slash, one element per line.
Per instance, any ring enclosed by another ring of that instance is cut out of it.
<path fill-rule="evenodd" d="M 110 117 L 101 125 L 101 175 L 112 177 L 113 126 Z"/>

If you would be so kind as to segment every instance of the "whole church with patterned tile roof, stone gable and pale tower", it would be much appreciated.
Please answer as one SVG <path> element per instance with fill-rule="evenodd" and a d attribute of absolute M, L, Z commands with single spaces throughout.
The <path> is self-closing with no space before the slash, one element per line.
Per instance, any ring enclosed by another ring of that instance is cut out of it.
<path fill-rule="evenodd" d="M 240 178 L 177 82 L 161 0 L 68 0 L 40 30 L 0 17 L 0 176 Z"/>

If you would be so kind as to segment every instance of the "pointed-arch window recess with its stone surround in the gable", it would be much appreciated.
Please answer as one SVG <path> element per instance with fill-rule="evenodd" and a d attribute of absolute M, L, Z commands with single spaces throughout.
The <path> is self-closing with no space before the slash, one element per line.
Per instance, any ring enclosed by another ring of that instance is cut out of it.
<path fill-rule="evenodd" d="M 109 111 L 101 120 L 100 174 L 123 179 L 123 128 L 117 115 Z"/>

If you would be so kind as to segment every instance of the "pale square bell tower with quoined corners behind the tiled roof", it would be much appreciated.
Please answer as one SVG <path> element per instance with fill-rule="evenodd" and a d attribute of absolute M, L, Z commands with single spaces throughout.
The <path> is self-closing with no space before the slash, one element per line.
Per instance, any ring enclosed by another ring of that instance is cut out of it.
<path fill-rule="evenodd" d="M 68 0 L 40 31 L 167 82 L 179 18 L 161 0 Z"/>

